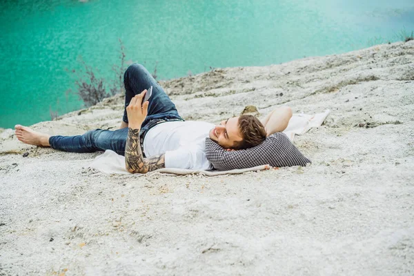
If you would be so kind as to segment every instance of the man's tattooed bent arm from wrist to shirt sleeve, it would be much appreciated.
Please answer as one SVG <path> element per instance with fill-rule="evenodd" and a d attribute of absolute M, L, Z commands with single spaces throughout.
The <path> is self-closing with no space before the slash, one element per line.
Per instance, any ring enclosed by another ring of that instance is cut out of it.
<path fill-rule="evenodd" d="M 139 128 L 128 128 L 128 138 L 125 147 L 125 166 L 128 172 L 146 173 L 151 170 L 166 167 L 166 154 L 155 155 L 149 158 L 142 156 L 141 146 L 139 144 Z"/>

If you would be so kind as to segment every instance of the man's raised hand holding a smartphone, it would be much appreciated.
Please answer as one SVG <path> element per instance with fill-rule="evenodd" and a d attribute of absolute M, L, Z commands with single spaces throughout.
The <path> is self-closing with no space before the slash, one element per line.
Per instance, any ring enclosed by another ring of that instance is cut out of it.
<path fill-rule="evenodd" d="M 128 127 L 132 129 L 140 129 L 142 122 L 144 122 L 148 114 L 148 94 L 152 94 L 152 86 L 150 87 L 150 92 L 147 90 L 142 91 L 140 94 L 135 95 L 130 101 L 129 106 L 126 108 L 126 114 L 128 115 Z"/>

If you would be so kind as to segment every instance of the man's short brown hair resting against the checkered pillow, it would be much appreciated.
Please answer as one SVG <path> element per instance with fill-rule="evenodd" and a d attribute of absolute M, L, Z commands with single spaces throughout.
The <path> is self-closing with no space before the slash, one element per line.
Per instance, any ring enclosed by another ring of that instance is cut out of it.
<path fill-rule="evenodd" d="M 259 146 L 267 137 L 262 122 L 253 115 L 240 116 L 238 125 L 243 140 L 233 144 L 235 150 L 244 150 L 246 148 Z"/>

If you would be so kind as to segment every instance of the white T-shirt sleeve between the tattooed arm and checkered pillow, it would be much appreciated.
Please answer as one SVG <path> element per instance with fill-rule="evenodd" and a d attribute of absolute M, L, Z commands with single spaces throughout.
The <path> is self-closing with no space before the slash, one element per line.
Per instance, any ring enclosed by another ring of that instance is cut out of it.
<path fill-rule="evenodd" d="M 166 152 L 166 168 L 210 170 L 213 168 L 206 158 L 206 152 L 197 146 L 177 148 Z"/>

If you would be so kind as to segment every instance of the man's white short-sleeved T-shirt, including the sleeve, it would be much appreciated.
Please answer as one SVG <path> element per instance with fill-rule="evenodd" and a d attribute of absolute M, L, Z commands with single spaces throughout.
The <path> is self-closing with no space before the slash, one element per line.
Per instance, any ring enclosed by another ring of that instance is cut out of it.
<path fill-rule="evenodd" d="M 204 121 L 168 121 L 150 130 L 144 138 L 146 157 L 166 153 L 166 168 L 211 170 L 206 158 L 206 137 L 214 124 Z"/>

